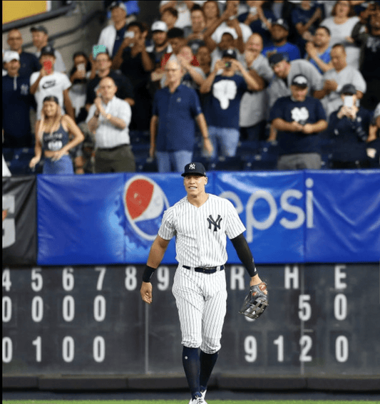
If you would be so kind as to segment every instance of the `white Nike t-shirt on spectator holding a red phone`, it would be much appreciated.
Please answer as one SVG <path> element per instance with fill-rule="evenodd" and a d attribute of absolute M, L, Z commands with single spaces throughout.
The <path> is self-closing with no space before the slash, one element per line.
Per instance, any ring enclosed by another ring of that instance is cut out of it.
<path fill-rule="evenodd" d="M 31 86 L 33 86 L 33 84 L 37 81 L 39 75 L 39 71 L 35 71 L 31 74 Z M 54 95 L 56 98 L 58 98 L 58 103 L 61 106 L 63 113 L 63 90 L 67 90 L 70 87 L 71 81 L 68 80 L 66 74 L 63 73 L 54 71 L 52 74 L 41 78 L 41 81 L 38 83 L 37 91 L 34 94 L 34 98 L 36 98 L 37 103 L 38 119 L 41 118 L 43 98 L 45 98 L 47 95 Z"/>

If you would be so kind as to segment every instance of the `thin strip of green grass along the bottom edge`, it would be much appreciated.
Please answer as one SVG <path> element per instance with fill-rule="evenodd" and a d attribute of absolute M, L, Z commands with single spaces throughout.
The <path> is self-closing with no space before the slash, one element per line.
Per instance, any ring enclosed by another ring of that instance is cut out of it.
<path fill-rule="evenodd" d="M 252 404 L 252 400 L 210 400 L 208 404 Z M 6 400 L 3 404 L 177 404 L 185 400 Z M 378 401 L 349 400 L 258 400 L 260 404 L 379 404 Z"/>

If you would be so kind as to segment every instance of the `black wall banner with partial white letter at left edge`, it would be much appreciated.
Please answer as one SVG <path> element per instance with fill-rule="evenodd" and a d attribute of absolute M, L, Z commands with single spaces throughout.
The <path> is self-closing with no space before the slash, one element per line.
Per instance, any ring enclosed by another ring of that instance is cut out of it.
<path fill-rule="evenodd" d="M 3 177 L 3 265 L 35 265 L 36 178 Z"/>

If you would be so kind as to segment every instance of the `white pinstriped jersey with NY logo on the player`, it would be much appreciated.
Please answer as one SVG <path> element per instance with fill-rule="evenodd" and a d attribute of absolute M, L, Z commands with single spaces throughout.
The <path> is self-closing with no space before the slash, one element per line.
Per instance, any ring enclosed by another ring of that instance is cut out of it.
<path fill-rule="evenodd" d="M 201 207 L 184 197 L 163 215 L 158 235 L 165 240 L 176 236 L 178 263 L 188 266 L 218 266 L 227 261 L 226 234 L 230 239 L 242 234 L 242 224 L 234 205 L 225 198 L 208 194 Z"/>

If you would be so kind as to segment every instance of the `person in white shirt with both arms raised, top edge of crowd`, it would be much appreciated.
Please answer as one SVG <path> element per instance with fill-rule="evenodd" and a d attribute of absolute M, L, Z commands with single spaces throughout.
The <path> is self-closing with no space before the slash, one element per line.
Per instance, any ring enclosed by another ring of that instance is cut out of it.
<path fill-rule="evenodd" d="M 237 20 L 238 6 L 239 1 L 227 0 L 224 13 L 205 31 L 204 40 L 210 52 L 220 43 L 226 29 L 227 31 L 232 31 L 232 36 L 234 36 L 234 39 L 236 38 L 233 47 L 239 49 L 240 53 L 244 52 L 245 42 L 252 35 L 252 31 L 249 26 Z"/>

